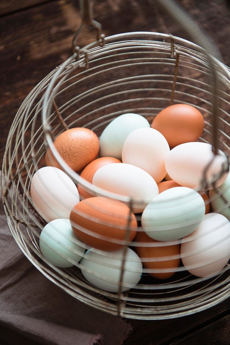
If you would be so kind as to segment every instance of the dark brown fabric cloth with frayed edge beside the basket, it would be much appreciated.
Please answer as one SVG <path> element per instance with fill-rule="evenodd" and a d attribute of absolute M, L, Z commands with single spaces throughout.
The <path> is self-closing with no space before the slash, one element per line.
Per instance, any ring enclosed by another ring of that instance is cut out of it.
<path fill-rule="evenodd" d="M 15 243 L 0 202 L 0 339 L 4 344 L 120 345 L 131 330 L 121 318 L 77 301 L 45 278 Z"/>

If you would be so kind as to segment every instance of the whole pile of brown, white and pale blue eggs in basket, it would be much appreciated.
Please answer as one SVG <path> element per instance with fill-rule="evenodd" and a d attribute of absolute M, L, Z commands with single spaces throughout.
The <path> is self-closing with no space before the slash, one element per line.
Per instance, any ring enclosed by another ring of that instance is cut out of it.
<path fill-rule="evenodd" d="M 197 141 L 203 129 L 199 110 L 176 104 L 160 111 L 151 126 L 129 113 L 112 120 L 100 139 L 87 128 L 57 136 L 61 158 L 92 188 L 76 186 L 48 149 L 46 166 L 35 172 L 30 188 L 33 206 L 47 222 L 39 240 L 44 260 L 76 265 L 92 285 L 115 293 L 125 242 L 122 291 L 135 287 L 143 272 L 168 279 L 179 265 L 198 277 L 220 272 L 230 259 L 230 209 L 211 179 L 227 158 L 220 150 L 214 157 L 210 144 Z M 229 202 L 230 175 L 216 186 Z"/>

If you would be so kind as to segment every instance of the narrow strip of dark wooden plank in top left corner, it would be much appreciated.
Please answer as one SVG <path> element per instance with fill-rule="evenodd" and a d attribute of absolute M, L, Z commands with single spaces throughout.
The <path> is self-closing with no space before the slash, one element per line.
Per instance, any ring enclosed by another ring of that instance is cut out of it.
<path fill-rule="evenodd" d="M 50 1 L 52 0 L 1 0 L 0 17 Z"/>

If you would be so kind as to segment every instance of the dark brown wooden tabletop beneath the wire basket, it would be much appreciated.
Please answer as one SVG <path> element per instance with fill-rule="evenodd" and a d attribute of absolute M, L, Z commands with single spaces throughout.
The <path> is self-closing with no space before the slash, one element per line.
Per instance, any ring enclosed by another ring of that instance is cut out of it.
<path fill-rule="evenodd" d="M 230 4 L 224 0 L 180 0 L 219 47 L 230 65 Z M 94 17 L 106 35 L 157 31 L 189 38 L 167 14 L 147 0 L 94 0 Z M 17 109 L 45 75 L 71 54 L 80 24 L 78 1 L 0 0 L 0 161 Z M 94 40 L 87 28 L 79 43 Z M 206 312 L 165 321 L 130 320 L 133 333 L 124 344 L 229 345 L 230 300 Z"/>

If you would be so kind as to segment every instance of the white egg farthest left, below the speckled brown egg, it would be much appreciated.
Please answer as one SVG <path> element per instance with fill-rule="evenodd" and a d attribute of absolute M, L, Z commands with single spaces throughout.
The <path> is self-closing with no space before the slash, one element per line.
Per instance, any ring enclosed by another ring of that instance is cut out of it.
<path fill-rule="evenodd" d="M 47 222 L 69 219 L 72 208 L 80 200 L 71 178 L 55 167 L 43 167 L 35 172 L 30 193 L 34 208 Z"/>

